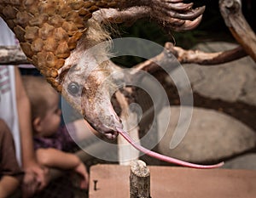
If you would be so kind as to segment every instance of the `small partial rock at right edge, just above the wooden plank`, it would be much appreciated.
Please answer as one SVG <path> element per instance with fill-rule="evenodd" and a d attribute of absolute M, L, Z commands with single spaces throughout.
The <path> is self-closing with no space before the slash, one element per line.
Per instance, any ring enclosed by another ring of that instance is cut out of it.
<path fill-rule="evenodd" d="M 223 168 L 256 170 L 256 154 L 246 154 L 226 161 Z"/>

